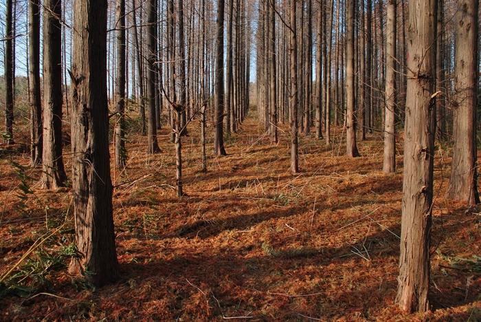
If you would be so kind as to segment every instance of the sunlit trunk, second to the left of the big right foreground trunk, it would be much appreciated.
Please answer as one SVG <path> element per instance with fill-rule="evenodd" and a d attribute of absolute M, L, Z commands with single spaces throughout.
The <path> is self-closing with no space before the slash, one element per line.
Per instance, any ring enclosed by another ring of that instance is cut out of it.
<path fill-rule="evenodd" d="M 355 69 L 354 69 L 354 26 L 355 26 L 355 0 L 348 0 L 347 8 L 347 23 L 348 23 L 348 40 L 346 52 L 346 91 L 347 91 L 347 115 L 346 115 L 346 153 L 348 157 L 355 158 L 360 156 L 357 150 L 356 143 L 356 121 L 354 116 L 354 109 L 356 105 L 355 98 Z"/>

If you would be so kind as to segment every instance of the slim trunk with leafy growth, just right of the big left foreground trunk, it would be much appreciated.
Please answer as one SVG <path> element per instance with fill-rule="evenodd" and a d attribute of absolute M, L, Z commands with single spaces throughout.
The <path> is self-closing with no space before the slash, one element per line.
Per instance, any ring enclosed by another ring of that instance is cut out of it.
<path fill-rule="evenodd" d="M 117 105 L 115 105 L 115 167 L 122 169 L 126 162 L 125 149 L 125 0 L 117 0 Z"/>

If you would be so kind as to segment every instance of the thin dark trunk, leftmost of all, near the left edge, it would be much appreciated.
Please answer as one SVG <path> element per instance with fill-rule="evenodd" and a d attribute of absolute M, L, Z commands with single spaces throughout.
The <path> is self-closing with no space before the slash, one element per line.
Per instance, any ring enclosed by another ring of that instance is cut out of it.
<path fill-rule="evenodd" d="M 5 131 L 6 142 L 14 144 L 13 140 L 13 105 L 14 105 L 14 71 L 13 71 L 13 3 L 7 0 L 7 17 L 5 20 Z"/>

